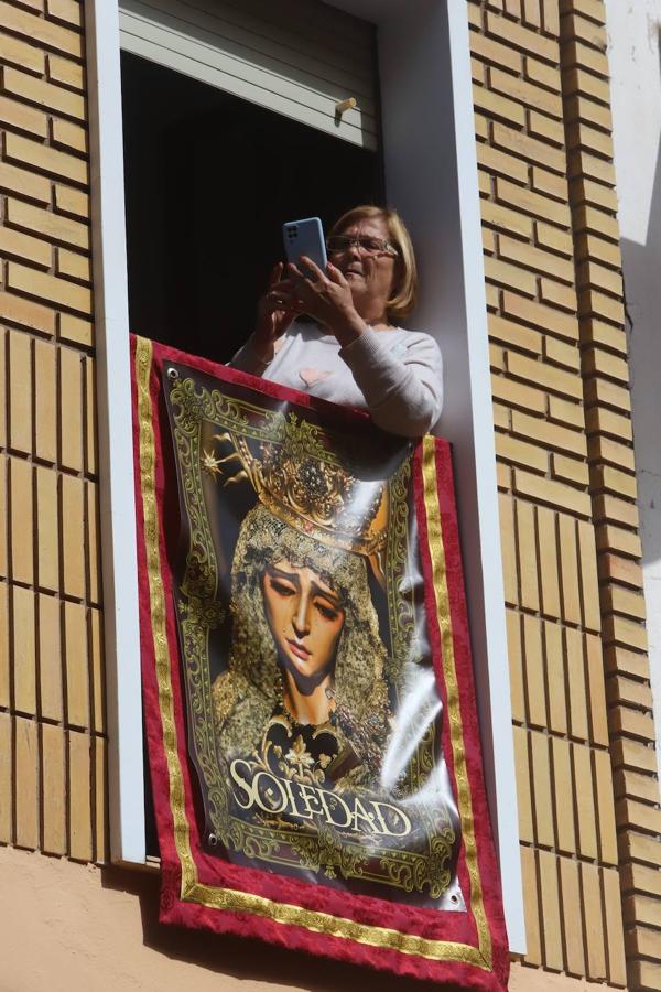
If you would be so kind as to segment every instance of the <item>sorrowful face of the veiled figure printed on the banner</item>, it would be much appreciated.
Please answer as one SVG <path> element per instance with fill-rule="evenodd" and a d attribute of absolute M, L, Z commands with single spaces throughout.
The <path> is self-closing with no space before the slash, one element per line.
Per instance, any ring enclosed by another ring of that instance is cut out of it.
<path fill-rule="evenodd" d="M 312 569 L 286 559 L 267 567 L 262 590 L 282 662 L 294 676 L 318 683 L 335 661 L 345 622 L 338 593 Z"/>

